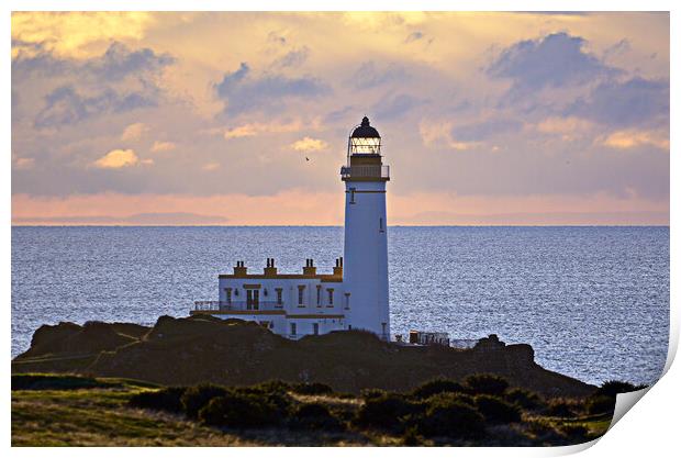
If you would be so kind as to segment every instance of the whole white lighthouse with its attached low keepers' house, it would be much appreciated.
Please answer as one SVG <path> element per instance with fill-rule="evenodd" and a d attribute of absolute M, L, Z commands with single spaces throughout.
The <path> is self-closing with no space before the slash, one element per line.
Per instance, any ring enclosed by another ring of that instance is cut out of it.
<path fill-rule="evenodd" d="M 194 303 L 191 314 L 255 321 L 272 332 L 299 338 L 340 329 L 390 336 L 388 298 L 388 166 L 381 136 L 364 118 L 348 138 L 345 182 L 344 257 L 332 273 L 317 273 L 306 259 L 302 273 L 279 273 L 267 259 L 263 273 L 248 273 L 243 261 L 219 276 L 219 300 Z M 345 266 L 344 266 L 345 264 Z"/>

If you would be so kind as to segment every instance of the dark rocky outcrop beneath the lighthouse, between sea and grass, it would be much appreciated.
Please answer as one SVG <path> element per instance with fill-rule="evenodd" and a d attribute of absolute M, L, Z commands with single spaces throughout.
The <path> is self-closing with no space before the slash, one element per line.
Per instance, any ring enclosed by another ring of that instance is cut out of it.
<path fill-rule="evenodd" d="M 494 337 L 462 350 L 386 343 L 359 331 L 294 342 L 255 323 L 208 315 L 161 316 L 152 328 L 60 323 L 36 331 L 31 349 L 12 361 L 12 371 L 77 372 L 163 384 L 317 381 L 348 392 L 406 391 L 437 377 L 460 380 L 491 372 L 545 395 L 583 396 L 594 390 L 538 366 L 529 345 L 505 345 Z"/>

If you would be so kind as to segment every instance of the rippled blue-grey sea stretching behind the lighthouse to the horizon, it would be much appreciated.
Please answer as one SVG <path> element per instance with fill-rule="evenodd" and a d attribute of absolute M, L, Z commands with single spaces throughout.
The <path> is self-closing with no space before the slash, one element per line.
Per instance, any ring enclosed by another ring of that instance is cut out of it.
<path fill-rule="evenodd" d="M 14 226 L 12 357 L 43 324 L 152 325 L 217 299 L 217 275 L 332 270 L 342 227 Z M 669 227 L 388 228 L 393 334 L 496 334 L 589 383 L 652 383 L 669 342 Z"/>

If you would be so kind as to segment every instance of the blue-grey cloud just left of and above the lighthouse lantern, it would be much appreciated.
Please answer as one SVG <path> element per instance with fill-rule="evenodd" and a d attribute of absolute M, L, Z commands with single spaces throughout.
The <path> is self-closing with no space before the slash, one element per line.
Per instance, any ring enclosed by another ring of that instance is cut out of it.
<path fill-rule="evenodd" d="M 214 85 L 215 93 L 226 101 L 225 112 L 238 114 L 260 109 L 280 110 L 287 99 L 309 99 L 327 93 L 328 88 L 315 78 L 287 78 L 267 74 L 250 77 L 250 68 L 242 63 L 239 68 L 225 74 Z"/>

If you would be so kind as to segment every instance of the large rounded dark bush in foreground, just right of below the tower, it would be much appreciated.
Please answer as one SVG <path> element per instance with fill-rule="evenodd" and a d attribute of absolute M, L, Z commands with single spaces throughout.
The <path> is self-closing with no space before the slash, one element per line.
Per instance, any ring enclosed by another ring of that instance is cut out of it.
<path fill-rule="evenodd" d="M 438 402 L 431 405 L 418 423 L 425 436 L 480 438 L 484 436 L 484 418 L 472 406 L 462 402 Z"/>

